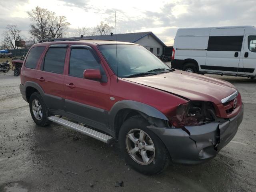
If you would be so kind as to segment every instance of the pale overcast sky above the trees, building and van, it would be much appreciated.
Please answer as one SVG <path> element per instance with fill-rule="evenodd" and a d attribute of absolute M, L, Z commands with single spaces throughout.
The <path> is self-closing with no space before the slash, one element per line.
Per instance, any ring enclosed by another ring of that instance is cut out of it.
<path fill-rule="evenodd" d="M 28 36 L 27 11 L 36 6 L 64 15 L 69 31 L 94 27 L 101 20 L 117 33 L 152 31 L 172 45 L 178 28 L 256 24 L 256 0 L 0 0 L 0 34 L 7 24 L 17 24 Z"/>

